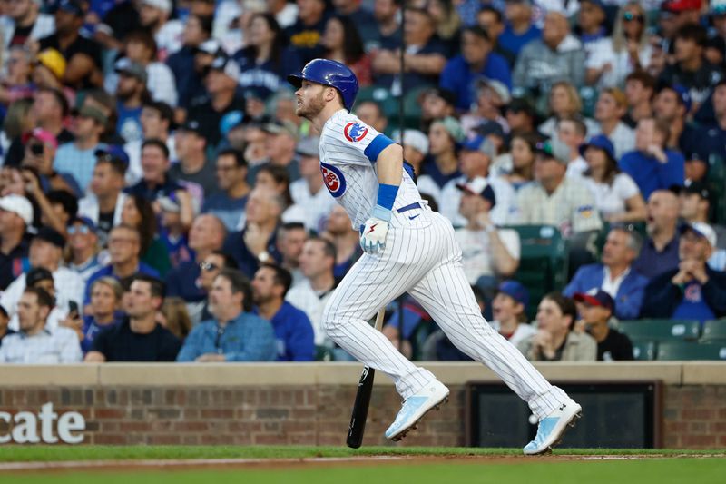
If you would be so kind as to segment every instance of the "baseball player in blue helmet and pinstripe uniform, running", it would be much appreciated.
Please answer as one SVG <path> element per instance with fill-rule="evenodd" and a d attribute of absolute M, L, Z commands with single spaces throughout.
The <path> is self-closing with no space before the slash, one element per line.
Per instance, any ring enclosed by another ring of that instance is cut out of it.
<path fill-rule="evenodd" d="M 349 113 L 358 94 L 355 74 L 344 64 L 314 59 L 288 81 L 297 89 L 297 114 L 321 133 L 323 180 L 360 232 L 365 251 L 332 294 L 322 326 L 343 350 L 394 380 L 404 401 L 386 437 L 403 438 L 449 394 L 366 322 L 408 292 L 456 347 L 494 370 L 529 404 L 539 427 L 525 454 L 551 449 L 582 408 L 484 320 L 462 270 L 454 229 L 421 200 L 401 146 Z"/>

